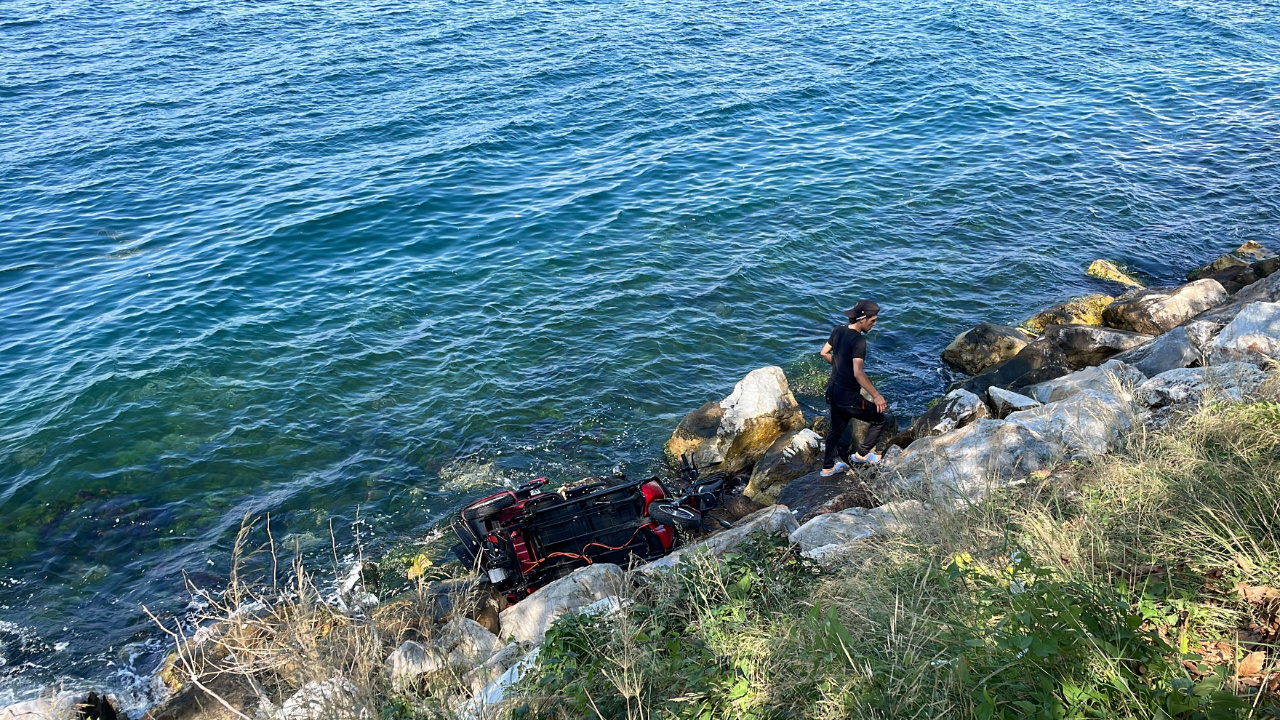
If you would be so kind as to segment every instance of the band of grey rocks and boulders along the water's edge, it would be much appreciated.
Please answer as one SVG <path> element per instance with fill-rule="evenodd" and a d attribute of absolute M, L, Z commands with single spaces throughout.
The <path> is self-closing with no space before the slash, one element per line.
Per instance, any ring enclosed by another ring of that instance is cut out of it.
<path fill-rule="evenodd" d="M 490 716 L 557 618 L 617 612 L 631 584 L 691 553 L 723 555 L 768 533 L 823 565 L 840 564 L 868 538 L 931 523 L 1028 477 L 1051 478 L 1064 462 L 1106 454 L 1135 428 L 1167 424 L 1202 401 L 1280 400 L 1268 379 L 1280 363 L 1280 256 L 1248 242 L 1178 287 L 1142 287 L 1106 261 L 1088 272 L 1125 292 L 1071 300 L 1016 328 L 983 323 L 960 333 L 942 359 L 970 377 L 886 433 L 879 468 L 822 478 L 824 418 L 804 416 L 781 368 L 753 370 L 727 397 L 686 415 L 667 448 L 749 473 L 732 529 L 641 568 L 585 568 L 511 607 L 466 580 L 378 598 L 360 564 L 335 602 L 302 582 L 275 597 L 237 597 L 219 621 L 175 638 L 156 678 L 168 700 L 146 717 L 370 717 L 369 689 L 348 678 L 355 667 L 387 687 L 431 685 L 442 715 Z M 851 432 L 856 438 L 865 425 Z M 312 676 L 262 650 L 314 644 L 300 628 L 324 637 L 362 623 L 399 632 L 339 664 L 347 674 Z M 114 720 L 115 711 L 109 697 L 77 693 L 0 710 L 0 720 L 70 717 Z"/>

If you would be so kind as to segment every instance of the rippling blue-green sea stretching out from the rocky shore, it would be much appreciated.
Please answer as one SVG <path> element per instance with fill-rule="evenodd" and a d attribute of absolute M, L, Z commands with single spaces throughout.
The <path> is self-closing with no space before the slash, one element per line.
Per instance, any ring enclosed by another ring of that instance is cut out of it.
<path fill-rule="evenodd" d="M 0 702 L 134 715 L 270 515 L 332 573 L 490 483 L 660 470 L 883 306 L 1280 246 L 1280 4 L 0 0 Z M 326 565 L 328 564 L 328 565 Z"/>

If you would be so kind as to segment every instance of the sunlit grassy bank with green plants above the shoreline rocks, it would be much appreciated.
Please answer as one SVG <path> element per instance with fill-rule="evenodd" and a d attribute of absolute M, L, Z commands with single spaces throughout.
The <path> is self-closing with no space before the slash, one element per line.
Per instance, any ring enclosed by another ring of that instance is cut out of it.
<path fill-rule="evenodd" d="M 562 620 L 518 717 L 1276 716 L 1280 405 L 1207 406 L 835 571 L 762 542 Z"/>

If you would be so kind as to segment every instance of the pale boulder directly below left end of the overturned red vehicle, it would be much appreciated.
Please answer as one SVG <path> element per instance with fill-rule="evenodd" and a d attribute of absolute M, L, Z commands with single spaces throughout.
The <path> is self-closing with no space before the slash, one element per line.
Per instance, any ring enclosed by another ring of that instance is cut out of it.
<path fill-rule="evenodd" d="M 543 642 L 547 629 L 561 615 L 580 612 L 605 597 L 621 594 L 622 569 L 608 562 L 588 565 L 502 611 L 502 634 L 511 642 Z"/>

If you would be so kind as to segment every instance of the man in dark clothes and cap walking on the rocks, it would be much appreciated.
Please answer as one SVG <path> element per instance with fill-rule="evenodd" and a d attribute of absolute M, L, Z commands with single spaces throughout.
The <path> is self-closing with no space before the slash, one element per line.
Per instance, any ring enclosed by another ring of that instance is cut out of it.
<path fill-rule="evenodd" d="M 837 455 L 847 457 L 847 448 L 841 452 L 840 441 L 852 419 L 868 423 L 870 428 L 863 439 L 863 446 L 854 454 L 854 462 L 879 462 L 879 456 L 873 452 L 879 441 L 884 425 L 888 423 L 888 402 L 884 396 L 876 389 L 863 364 L 867 361 L 865 334 L 876 325 L 879 316 L 879 305 L 870 300 L 859 300 L 849 310 L 847 325 L 836 325 L 827 338 L 827 345 L 822 346 L 822 359 L 831 363 L 831 379 L 827 382 L 827 402 L 831 404 L 831 415 L 827 423 L 827 454 L 822 461 L 822 475 L 829 478 L 837 473 L 849 470 L 849 464 L 837 459 Z M 863 392 L 872 397 L 868 402 Z"/>

